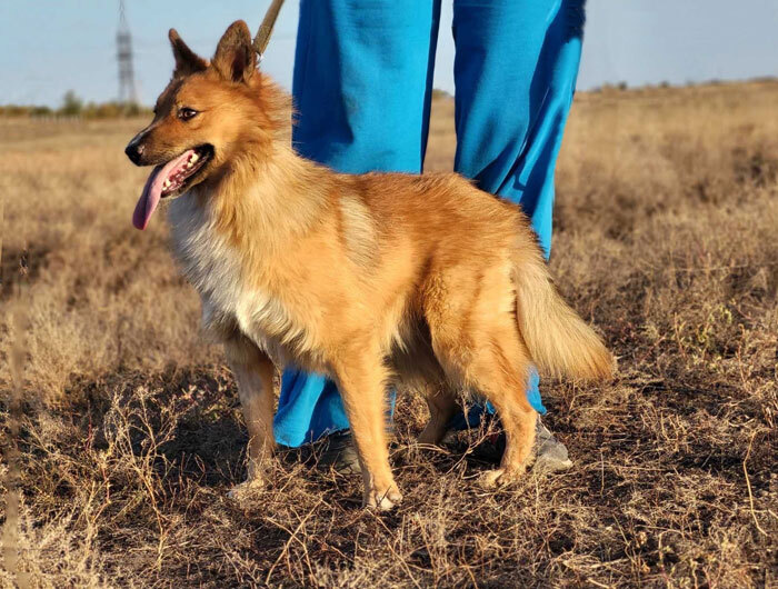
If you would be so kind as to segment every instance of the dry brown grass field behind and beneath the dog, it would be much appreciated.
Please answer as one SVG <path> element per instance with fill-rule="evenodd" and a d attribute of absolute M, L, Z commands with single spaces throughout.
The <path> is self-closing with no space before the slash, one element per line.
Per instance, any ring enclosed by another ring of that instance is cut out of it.
<path fill-rule="evenodd" d="M 776 587 L 778 83 L 576 101 L 551 266 L 618 378 L 543 382 L 575 468 L 489 493 L 482 432 L 420 449 L 402 395 L 389 515 L 297 452 L 226 497 L 247 435 L 163 217 L 130 223 L 142 121 L 0 120 L 2 585 Z"/>

